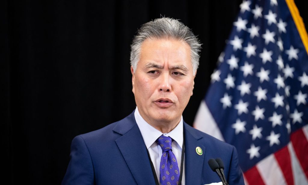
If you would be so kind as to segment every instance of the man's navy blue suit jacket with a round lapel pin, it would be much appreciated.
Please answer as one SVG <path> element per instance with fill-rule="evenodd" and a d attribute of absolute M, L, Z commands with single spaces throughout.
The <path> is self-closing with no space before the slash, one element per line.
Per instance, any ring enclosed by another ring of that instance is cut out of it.
<path fill-rule="evenodd" d="M 235 147 L 184 123 L 185 183 L 203 185 L 221 182 L 208 160 L 221 158 L 230 185 L 244 184 Z M 202 155 L 196 153 L 201 147 Z M 97 131 L 76 136 L 71 144 L 71 160 L 62 185 L 128 184 L 155 185 L 155 179 L 134 112 Z"/>

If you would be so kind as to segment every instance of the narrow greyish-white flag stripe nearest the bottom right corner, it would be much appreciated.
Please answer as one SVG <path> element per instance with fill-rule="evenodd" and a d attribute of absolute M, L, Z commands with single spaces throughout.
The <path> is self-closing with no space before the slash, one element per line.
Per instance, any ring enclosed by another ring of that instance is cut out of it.
<path fill-rule="evenodd" d="M 308 184 L 306 175 L 304 174 L 301 165 L 298 162 L 298 159 L 295 155 L 294 148 L 292 142 L 288 144 L 288 150 L 291 156 L 291 164 L 292 164 L 292 171 L 294 177 L 294 184 L 295 185 L 302 185 Z"/>

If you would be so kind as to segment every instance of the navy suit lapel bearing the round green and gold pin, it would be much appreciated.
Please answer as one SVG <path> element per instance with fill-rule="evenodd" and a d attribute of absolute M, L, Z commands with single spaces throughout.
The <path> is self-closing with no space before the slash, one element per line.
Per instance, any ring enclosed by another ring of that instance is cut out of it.
<path fill-rule="evenodd" d="M 201 184 L 202 169 L 206 148 L 201 144 L 202 136 L 193 133 L 193 128 L 184 123 L 185 135 L 185 184 Z M 198 155 L 196 147 L 203 151 Z"/>

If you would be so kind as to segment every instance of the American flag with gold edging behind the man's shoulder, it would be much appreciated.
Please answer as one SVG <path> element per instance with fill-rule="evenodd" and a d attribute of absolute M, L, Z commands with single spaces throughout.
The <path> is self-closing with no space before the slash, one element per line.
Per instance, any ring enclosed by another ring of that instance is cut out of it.
<path fill-rule="evenodd" d="M 237 148 L 246 184 L 308 184 L 308 39 L 298 10 L 293 0 L 244 0 L 233 25 L 194 127 Z"/>

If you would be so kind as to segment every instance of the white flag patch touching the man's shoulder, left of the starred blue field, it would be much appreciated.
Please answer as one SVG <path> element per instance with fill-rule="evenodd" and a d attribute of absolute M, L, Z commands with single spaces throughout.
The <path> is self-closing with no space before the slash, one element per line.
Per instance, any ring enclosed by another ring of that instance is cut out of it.
<path fill-rule="evenodd" d="M 205 101 L 202 100 L 194 121 L 194 127 L 202 132 L 205 132 L 213 137 L 225 141 L 222 136 L 217 123 L 215 122 L 212 114 L 209 111 Z"/>

